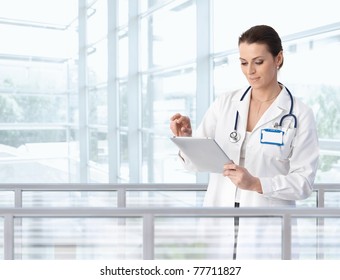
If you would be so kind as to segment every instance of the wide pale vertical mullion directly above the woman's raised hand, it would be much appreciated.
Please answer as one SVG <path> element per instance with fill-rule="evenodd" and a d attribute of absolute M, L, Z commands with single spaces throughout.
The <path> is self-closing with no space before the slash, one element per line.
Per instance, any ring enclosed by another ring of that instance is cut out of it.
<path fill-rule="evenodd" d="M 197 0 L 196 9 L 196 123 L 198 124 L 212 101 L 210 0 Z M 198 173 L 196 181 L 207 182 L 208 174 Z"/>

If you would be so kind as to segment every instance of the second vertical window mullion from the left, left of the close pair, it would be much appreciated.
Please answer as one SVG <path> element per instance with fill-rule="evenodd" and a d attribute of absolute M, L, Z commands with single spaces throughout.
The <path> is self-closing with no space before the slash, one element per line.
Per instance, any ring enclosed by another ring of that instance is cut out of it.
<path fill-rule="evenodd" d="M 118 135 L 118 1 L 107 0 L 108 10 L 108 81 L 107 81 L 107 112 L 108 112 L 108 162 L 109 183 L 117 183 L 119 169 L 119 135 Z"/>

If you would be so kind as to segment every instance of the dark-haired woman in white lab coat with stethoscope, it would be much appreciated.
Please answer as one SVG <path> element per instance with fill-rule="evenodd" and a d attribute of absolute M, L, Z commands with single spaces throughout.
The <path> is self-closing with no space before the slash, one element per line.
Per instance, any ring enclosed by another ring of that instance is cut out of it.
<path fill-rule="evenodd" d="M 233 160 L 223 174 L 210 174 L 204 205 L 294 206 L 312 193 L 317 170 L 313 112 L 278 82 L 284 57 L 272 27 L 250 28 L 238 46 L 249 88 L 220 95 L 194 132 L 214 138 Z M 176 136 L 192 136 L 189 117 L 179 113 L 171 117 L 170 129 Z M 195 170 L 185 154 L 179 155 L 187 169 Z"/>

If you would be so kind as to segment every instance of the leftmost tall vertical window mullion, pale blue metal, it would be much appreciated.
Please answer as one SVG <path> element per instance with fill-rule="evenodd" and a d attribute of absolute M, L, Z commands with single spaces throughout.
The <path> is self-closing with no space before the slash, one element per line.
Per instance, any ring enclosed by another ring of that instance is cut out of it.
<path fill-rule="evenodd" d="M 87 121 L 87 47 L 86 47 L 86 25 L 87 25 L 87 0 L 79 0 L 78 10 L 78 43 L 79 43 L 79 58 L 78 58 L 78 87 L 79 87 L 79 174 L 80 182 L 88 182 L 89 160 L 88 151 L 88 121 Z"/>

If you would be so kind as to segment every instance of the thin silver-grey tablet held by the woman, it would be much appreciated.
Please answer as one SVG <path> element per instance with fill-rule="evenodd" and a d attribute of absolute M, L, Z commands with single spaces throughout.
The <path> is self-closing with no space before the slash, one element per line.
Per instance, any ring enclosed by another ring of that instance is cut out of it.
<path fill-rule="evenodd" d="M 170 139 L 200 172 L 222 173 L 223 165 L 232 162 L 215 139 L 177 136 Z"/>

